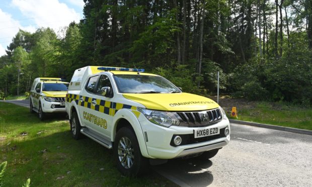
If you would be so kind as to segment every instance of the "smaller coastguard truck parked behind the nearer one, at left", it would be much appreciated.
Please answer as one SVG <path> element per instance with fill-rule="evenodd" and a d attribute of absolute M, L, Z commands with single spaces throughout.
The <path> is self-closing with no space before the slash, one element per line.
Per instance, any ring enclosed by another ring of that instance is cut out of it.
<path fill-rule="evenodd" d="M 65 97 L 68 85 L 61 78 L 35 78 L 29 99 L 30 112 L 38 113 L 40 120 L 45 118 L 46 113 L 66 113 Z"/>

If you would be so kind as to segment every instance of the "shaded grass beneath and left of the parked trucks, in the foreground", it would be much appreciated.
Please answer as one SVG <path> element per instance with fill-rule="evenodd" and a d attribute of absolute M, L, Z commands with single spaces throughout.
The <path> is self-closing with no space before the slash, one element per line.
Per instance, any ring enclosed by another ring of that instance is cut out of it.
<path fill-rule="evenodd" d="M 89 138 L 74 140 L 69 130 L 64 116 L 41 122 L 27 108 L 0 102 L 0 162 L 8 161 L 5 186 L 22 186 L 27 178 L 31 186 L 175 186 L 154 172 L 122 176 L 112 150 Z"/>

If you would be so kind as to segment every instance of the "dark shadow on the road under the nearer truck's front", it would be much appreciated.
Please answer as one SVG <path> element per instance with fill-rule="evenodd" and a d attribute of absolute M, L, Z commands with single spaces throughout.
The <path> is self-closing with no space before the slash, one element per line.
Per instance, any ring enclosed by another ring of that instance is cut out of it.
<path fill-rule="evenodd" d="M 191 159 L 172 159 L 168 163 L 153 166 L 153 169 L 162 175 L 176 180 L 181 186 L 207 186 L 213 181 L 213 174 L 209 167 L 212 166 L 211 160 L 199 158 Z M 182 182 L 181 182 L 182 181 Z"/>

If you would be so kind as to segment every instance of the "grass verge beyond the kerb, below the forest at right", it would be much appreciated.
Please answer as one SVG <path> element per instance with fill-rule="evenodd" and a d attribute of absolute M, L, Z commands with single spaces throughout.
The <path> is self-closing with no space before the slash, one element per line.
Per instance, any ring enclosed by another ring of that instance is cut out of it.
<path fill-rule="evenodd" d="M 261 102 L 255 108 L 238 109 L 238 120 L 312 130 L 312 109 Z"/>

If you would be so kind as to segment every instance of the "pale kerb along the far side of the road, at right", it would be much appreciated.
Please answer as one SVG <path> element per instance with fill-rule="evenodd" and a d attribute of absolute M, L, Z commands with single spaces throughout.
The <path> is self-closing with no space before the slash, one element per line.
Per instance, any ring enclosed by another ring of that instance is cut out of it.
<path fill-rule="evenodd" d="M 286 131 L 286 132 L 292 132 L 292 133 L 298 133 L 298 134 L 312 135 L 312 131 L 304 130 L 304 129 L 296 129 L 296 128 L 291 128 L 291 127 L 282 127 L 282 126 L 277 126 L 277 125 L 247 122 L 247 121 L 241 121 L 241 120 L 232 120 L 232 119 L 228 119 L 228 120 L 230 123 L 236 123 L 236 124 L 241 124 L 241 125 L 250 125 L 250 126 L 279 130 L 279 131 Z"/>

